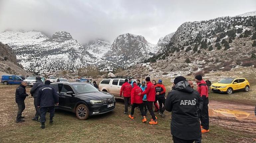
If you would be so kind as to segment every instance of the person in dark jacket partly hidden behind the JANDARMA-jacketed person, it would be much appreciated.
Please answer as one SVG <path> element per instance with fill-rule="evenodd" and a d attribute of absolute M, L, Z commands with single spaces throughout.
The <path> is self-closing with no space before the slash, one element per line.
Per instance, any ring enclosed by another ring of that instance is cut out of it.
<path fill-rule="evenodd" d="M 41 117 L 40 108 L 37 107 L 37 96 L 39 93 L 39 89 L 44 86 L 44 83 L 41 80 L 40 76 L 36 77 L 36 83 L 34 83 L 33 87 L 30 89 L 31 96 L 34 97 L 34 106 L 36 109 L 35 117 L 32 119 L 33 121 L 39 121 L 38 117 Z"/>

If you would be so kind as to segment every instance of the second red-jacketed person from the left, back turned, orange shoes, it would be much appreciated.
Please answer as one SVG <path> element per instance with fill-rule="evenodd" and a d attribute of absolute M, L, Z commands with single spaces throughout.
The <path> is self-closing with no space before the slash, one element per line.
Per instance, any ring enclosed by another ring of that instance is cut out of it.
<path fill-rule="evenodd" d="M 131 91 L 131 105 L 132 105 L 132 111 L 131 114 L 129 114 L 129 118 L 134 119 L 134 109 L 136 107 L 139 107 L 141 115 L 142 115 L 142 123 L 145 123 L 147 121 L 145 112 L 143 111 L 143 95 L 138 95 L 139 93 L 143 92 L 140 87 L 138 87 L 136 82 L 133 82 L 133 88 Z"/>

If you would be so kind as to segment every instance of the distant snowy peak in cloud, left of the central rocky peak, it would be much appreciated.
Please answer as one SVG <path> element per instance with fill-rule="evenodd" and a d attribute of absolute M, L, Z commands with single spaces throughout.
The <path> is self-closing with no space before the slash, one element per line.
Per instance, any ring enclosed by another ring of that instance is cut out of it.
<path fill-rule="evenodd" d="M 83 46 L 85 50 L 90 54 L 102 58 L 103 55 L 110 50 L 111 44 L 108 41 L 97 39 L 94 41 L 90 41 Z"/>

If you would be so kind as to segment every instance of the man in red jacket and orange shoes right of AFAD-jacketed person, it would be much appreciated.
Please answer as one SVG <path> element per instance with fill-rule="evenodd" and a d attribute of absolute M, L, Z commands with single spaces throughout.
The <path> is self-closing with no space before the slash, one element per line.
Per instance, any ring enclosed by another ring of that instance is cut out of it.
<path fill-rule="evenodd" d="M 197 83 L 197 91 L 203 99 L 203 109 L 201 111 L 201 132 L 209 132 L 209 113 L 208 113 L 208 87 L 206 82 L 202 79 L 201 75 L 195 76 L 195 82 Z"/>

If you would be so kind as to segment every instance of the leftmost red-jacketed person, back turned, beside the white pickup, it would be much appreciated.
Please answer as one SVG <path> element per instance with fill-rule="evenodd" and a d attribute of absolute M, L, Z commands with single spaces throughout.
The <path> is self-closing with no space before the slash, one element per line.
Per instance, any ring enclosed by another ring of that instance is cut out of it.
<path fill-rule="evenodd" d="M 124 96 L 124 114 L 128 113 L 128 104 L 131 98 L 132 86 L 128 83 L 128 79 L 124 80 L 124 84 L 120 89 L 120 97 Z"/>

